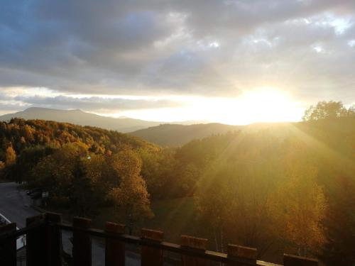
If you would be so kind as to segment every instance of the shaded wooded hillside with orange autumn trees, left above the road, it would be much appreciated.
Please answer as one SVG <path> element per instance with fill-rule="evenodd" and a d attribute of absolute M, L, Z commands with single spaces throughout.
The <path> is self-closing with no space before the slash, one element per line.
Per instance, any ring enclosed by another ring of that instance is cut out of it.
<path fill-rule="evenodd" d="M 126 211 L 138 201 L 130 212 L 151 216 L 139 155 L 159 153 L 158 146 L 116 131 L 18 118 L 0 123 L 0 140 L 0 176 L 50 192 L 49 203 L 87 216 L 104 204 Z M 117 196 L 120 189 L 129 198 Z"/>

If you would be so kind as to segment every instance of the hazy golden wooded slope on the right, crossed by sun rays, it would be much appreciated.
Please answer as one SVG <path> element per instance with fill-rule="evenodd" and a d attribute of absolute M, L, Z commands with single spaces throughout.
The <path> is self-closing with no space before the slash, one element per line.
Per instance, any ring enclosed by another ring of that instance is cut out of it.
<path fill-rule="evenodd" d="M 259 255 L 292 250 L 351 265 L 354 152 L 355 119 L 337 118 L 194 140 L 175 159 L 186 184 L 197 180 L 187 187 L 217 250 L 239 239 Z"/>

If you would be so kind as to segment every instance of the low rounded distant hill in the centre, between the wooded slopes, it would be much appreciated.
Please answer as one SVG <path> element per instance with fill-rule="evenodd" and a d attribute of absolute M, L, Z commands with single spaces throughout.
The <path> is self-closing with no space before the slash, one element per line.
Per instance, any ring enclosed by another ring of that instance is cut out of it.
<path fill-rule="evenodd" d="M 236 131 L 244 126 L 231 126 L 222 123 L 200 123 L 196 125 L 163 124 L 131 132 L 131 135 L 148 140 L 160 146 L 180 146 L 190 140 L 204 138 L 213 134 Z"/>

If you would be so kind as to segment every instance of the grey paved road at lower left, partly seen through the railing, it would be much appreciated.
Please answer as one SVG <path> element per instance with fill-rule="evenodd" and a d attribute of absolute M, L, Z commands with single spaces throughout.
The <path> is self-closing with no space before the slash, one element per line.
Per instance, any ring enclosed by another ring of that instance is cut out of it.
<path fill-rule="evenodd" d="M 16 183 L 0 183 L 0 214 L 16 223 L 18 228 L 23 228 L 26 226 L 27 217 L 38 215 L 40 212 L 31 208 L 31 198 L 17 187 Z M 71 235 L 70 232 L 62 232 L 63 249 L 67 253 L 72 253 L 72 243 L 69 240 Z M 97 238 L 92 240 L 92 265 L 104 266 L 104 243 Z M 126 265 L 141 265 L 138 255 L 128 253 Z"/>

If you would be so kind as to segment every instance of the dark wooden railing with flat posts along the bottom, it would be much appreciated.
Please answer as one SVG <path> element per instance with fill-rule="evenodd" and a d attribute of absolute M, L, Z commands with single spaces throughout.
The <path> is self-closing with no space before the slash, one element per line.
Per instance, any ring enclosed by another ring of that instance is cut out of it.
<path fill-rule="evenodd" d="M 163 240 L 163 232 L 141 229 L 141 237 L 126 235 L 124 225 L 107 222 L 104 230 L 91 228 L 91 220 L 76 217 L 73 224 L 62 223 L 60 214 L 46 213 L 26 219 L 26 228 L 16 231 L 16 224 L 0 227 L 0 265 L 16 265 L 16 238 L 26 234 L 27 266 L 62 266 L 61 231 L 73 233 L 73 266 L 92 265 L 92 236 L 105 240 L 105 265 L 125 263 L 125 245 L 141 246 L 141 265 L 163 265 L 164 252 L 181 256 L 180 265 L 200 266 L 220 262 L 228 266 L 274 265 L 256 260 L 257 250 L 240 245 L 228 245 L 228 252 L 207 250 L 207 239 L 182 235 L 180 245 Z M 284 255 L 285 266 L 316 266 L 317 260 Z"/>

